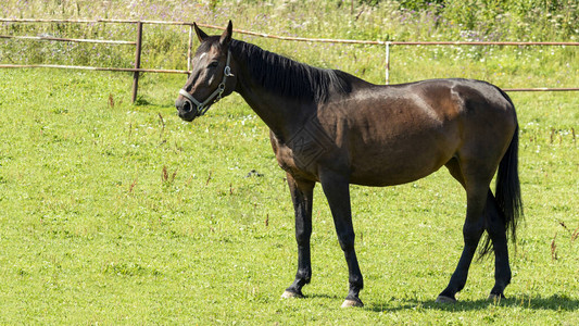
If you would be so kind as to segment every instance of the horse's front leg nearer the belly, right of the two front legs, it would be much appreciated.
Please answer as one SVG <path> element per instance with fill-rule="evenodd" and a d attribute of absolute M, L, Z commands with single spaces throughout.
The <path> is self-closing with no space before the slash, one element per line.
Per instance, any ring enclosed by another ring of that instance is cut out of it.
<path fill-rule="evenodd" d="M 352 225 L 350 184 L 348 178 L 333 173 L 322 174 L 320 183 L 331 210 L 338 241 L 348 263 L 350 290 L 342 308 L 364 306 L 364 303 L 358 298 L 360 291 L 364 288 L 364 279 L 362 278 L 362 272 L 360 271 L 354 250 L 355 235 L 354 226 Z"/>

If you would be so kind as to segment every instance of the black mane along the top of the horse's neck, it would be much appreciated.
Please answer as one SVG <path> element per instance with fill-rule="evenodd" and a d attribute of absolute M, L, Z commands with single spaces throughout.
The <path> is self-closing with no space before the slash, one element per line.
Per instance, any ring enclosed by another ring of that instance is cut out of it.
<path fill-rule="evenodd" d="M 277 95 L 326 102 L 352 89 L 344 72 L 314 67 L 239 40 L 231 40 L 229 48 L 262 87 Z"/>

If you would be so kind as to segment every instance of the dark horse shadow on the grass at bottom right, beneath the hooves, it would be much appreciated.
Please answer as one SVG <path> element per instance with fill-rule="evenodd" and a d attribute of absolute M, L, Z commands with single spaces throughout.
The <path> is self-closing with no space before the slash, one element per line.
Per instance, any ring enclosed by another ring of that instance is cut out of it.
<path fill-rule="evenodd" d="M 399 301 L 398 299 L 394 299 Z M 366 305 L 365 309 L 375 312 L 397 312 L 408 309 L 427 309 L 448 312 L 468 312 L 487 310 L 489 306 L 506 306 L 506 308 L 524 308 L 537 311 L 577 311 L 579 310 L 579 300 L 571 299 L 567 296 L 551 296 L 551 297 L 513 297 L 501 299 L 498 301 L 490 300 L 473 300 L 473 301 L 457 301 L 456 303 L 438 303 L 435 300 L 420 301 L 416 299 L 401 299 L 402 304 L 393 306 L 392 300 L 376 302 Z M 368 302 L 369 303 L 369 302 Z"/>

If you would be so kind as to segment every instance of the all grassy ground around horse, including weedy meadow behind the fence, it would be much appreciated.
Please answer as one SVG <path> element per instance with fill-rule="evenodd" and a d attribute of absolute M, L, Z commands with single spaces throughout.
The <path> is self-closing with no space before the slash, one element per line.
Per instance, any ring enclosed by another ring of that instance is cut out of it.
<path fill-rule="evenodd" d="M 571 0 L 8 0 L 5 17 L 197 21 L 277 35 L 380 40 L 576 40 Z M 362 2 L 379 2 L 370 7 Z M 439 1 L 432 1 L 439 3 Z M 399 3 L 423 5 L 417 11 Z M 480 5 L 479 5 L 480 4 Z M 134 26 L 10 24 L 2 35 L 128 39 Z M 209 33 L 214 33 L 207 29 Z M 221 33 L 221 32 L 219 32 Z M 142 66 L 185 68 L 187 28 L 146 25 Z M 385 49 L 254 42 L 383 83 Z M 197 46 L 197 43 L 196 43 Z M 577 87 L 577 47 L 392 47 L 391 83 L 484 79 Z M 131 66 L 134 49 L 4 39 L 0 63 Z M 297 246 L 267 127 L 238 95 L 185 123 L 184 76 L 0 70 L 0 324 L 578 325 L 579 97 L 512 92 L 526 220 L 506 300 L 486 300 L 493 259 L 453 305 L 435 302 L 462 250 L 465 195 L 443 168 L 415 183 L 352 187 L 363 309 L 342 310 L 348 271 L 315 190 L 312 284 L 281 300 Z"/>

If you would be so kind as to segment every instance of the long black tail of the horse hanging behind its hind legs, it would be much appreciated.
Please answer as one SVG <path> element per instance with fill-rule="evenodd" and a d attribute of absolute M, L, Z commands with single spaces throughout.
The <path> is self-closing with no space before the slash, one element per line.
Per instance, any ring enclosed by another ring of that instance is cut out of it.
<path fill-rule="evenodd" d="M 513 105 L 511 98 L 501 90 L 505 99 Z M 513 108 L 515 108 L 513 105 Z M 516 120 L 516 117 L 515 117 Z M 523 220 L 523 199 L 520 196 L 520 181 L 518 177 L 518 123 L 515 128 L 515 134 L 511 140 L 501 163 L 499 163 L 499 171 L 496 173 L 496 185 L 494 190 L 494 198 L 502 213 L 502 220 L 505 226 L 507 237 L 516 244 L 517 226 Z M 492 243 L 490 237 L 487 235 L 482 248 L 480 249 L 480 258 L 492 251 Z"/>

